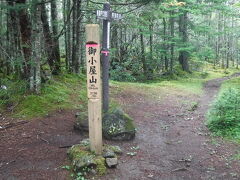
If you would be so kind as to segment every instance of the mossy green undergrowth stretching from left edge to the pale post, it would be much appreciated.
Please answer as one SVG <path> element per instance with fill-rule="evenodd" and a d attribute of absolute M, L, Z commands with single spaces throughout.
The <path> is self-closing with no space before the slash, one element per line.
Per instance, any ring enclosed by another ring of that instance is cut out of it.
<path fill-rule="evenodd" d="M 44 84 L 39 95 L 29 94 L 24 81 L 2 81 L 2 84 L 7 90 L 0 89 L 0 109 L 14 106 L 14 117 L 29 119 L 59 109 L 86 109 L 87 92 L 83 75 L 54 77 Z"/>

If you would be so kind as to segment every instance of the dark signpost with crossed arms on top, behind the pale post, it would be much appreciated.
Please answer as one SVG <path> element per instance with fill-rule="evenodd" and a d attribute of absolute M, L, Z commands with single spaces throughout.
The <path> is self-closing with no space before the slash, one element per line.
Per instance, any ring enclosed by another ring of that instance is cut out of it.
<path fill-rule="evenodd" d="M 112 12 L 109 3 L 103 5 L 103 11 L 97 10 L 97 18 L 103 20 L 102 39 L 102 90 L 103 90 L 103 111 L 108 112 L 109 108 L 109 48 L 110 48 L 110 22 L 122 19 L 122 15 Z"/>

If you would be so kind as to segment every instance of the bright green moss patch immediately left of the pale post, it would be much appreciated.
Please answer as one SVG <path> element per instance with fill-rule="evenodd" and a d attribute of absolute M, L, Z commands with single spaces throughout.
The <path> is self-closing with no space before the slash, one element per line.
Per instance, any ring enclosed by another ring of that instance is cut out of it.
<path fill-rule="evenodd" d="M 39 95 L 22 95 L 14 117 L 30 119 L 59 109 L 86 110 L 85 76 L 64 74 L 44 84 Z"/>

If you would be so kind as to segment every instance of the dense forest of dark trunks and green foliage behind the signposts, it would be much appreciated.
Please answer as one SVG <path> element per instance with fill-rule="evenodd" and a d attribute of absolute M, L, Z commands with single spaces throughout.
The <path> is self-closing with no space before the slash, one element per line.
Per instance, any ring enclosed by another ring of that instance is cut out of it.
<path fill-rule="evenodd" d="M 24 80 L 39 93 L 61 73 L 85 72 L 85 25 L 100 0 L 1 0 L 0 85 Z M 124 19 L 111 23 L 113 80 L 154 79 L 203 65 L 239 66 L 237 0 L 109 1 Z"/>

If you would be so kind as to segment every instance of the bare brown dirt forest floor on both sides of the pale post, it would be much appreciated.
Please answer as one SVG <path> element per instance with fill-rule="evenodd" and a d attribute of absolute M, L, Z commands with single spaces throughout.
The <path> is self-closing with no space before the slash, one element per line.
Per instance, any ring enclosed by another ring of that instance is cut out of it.
<path fill-rule="evenodd" d="M 119 165 L 102 180 L 231 180 L 240 179 L 240 145 L 210 135 L 204 125 L 209 105 L 229 77 L 210 80 L 202 93 L 157 86 L 118 84 L 112 94 L 137 125 L 136 138 L 119 145 Z M 14 125 L 0 130 L 0 179 L 69 179 L 65 146 L 87 134 L 73 130 L 76 111 L 58 111 L 24 124 L 4 115 Z M 132 156 L 133 154 L 136 155 Z"/>

